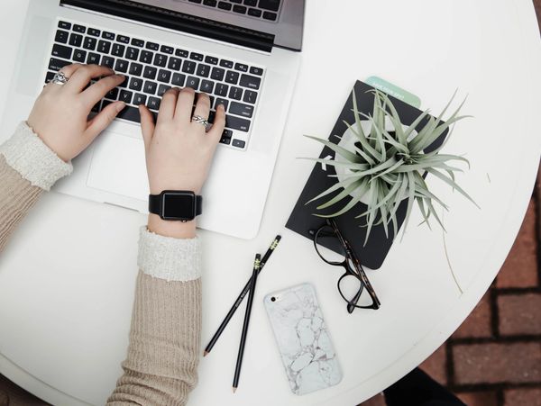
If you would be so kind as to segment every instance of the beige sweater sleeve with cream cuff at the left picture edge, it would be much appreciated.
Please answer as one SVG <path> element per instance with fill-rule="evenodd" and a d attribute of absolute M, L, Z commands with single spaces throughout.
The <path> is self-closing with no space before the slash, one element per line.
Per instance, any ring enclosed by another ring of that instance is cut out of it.
<path fill-rule="evenodd" d="M 24 122 L 0 145 L 0 252 L 41 194 L 71 170 Z"/>

